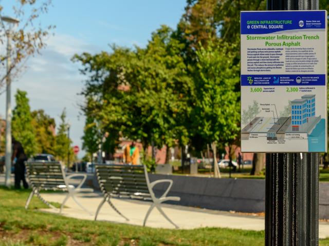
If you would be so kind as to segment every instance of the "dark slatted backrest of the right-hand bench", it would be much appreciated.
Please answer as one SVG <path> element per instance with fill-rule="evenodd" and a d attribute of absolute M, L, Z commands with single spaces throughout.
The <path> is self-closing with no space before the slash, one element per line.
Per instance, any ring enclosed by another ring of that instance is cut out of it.
<path fill-rule="evenodd" d="M 103 193 L 132 199 L 148 200 L 151 197 L 144 166 L 96 165 L 96 174 Z"/>

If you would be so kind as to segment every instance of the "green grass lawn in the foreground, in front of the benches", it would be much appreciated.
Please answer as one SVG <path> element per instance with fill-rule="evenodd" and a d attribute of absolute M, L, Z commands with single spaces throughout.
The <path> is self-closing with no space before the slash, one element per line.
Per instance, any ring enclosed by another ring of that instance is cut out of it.
<path fill-rule="evenodd" d="M 264 232 L 153 229 L 67 218 L 37 211 L 45 206 L 36 198 L 25 210 L 28 194 L 0 188 L 0 245 L 264 245 Z M 329 245 L 329 239 L 320 245 Z"/>

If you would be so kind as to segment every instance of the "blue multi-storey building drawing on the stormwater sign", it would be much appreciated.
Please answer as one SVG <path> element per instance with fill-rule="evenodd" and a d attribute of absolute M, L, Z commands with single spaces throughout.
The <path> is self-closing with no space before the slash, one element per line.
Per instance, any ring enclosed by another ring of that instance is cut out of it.
<path fill-rule="evenodd" d="M 291 126 L 293 131 L 308 123 L 309 117 L 315 116 L 315 95 L 303 95 L 301 99 L 291 101 Z"/>

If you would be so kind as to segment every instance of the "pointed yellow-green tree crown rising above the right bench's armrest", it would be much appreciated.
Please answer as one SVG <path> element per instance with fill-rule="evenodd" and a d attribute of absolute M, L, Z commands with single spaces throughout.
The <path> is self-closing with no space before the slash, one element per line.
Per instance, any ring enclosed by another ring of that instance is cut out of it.
<path fill-rule="evenodd" d="M 145 147 L 152 142 L 171 147 L 176 141 L 188 141 L 186 117 L 193 84 L 180 55 L 182 45 L 172 33 L 167 26 L 154 32 L 147 48 L 136 51 L 133 72 L 126 73 L 131 125 L 123 133 L 141 139 Z"/>

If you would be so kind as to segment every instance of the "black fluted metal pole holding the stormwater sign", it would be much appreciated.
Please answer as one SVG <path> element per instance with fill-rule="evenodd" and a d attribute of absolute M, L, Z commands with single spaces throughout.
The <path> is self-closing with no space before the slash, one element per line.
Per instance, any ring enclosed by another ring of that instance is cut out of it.
<path fill-rule="evenodd" d="M 317 10 L 319 0 L 267 0 L 267 10 Z M 266 154 L 265 244 L 318 245 L 319 154 Z"/>

